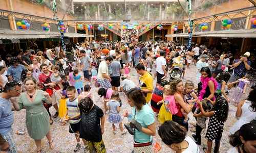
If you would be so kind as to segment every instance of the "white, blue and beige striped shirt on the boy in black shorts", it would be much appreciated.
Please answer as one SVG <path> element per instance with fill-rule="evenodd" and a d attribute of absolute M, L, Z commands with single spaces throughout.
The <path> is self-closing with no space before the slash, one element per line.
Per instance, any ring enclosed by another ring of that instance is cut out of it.
<path fill-rule="evenodd" d="M 66 105 L 67 105 L 68 116 L 69 117 L 74 117 L 77 114 L 80 114 L 80 110 L 79 110 L 79 107 L 78 107 L 78 99 L 77 98 L 75 100 L 73 100 L 73 101 L 70 101 L 69 99 L 67 99 Z M 75 124 L 75 123 L 78 123 L 79 121 L 80 121 L 80 117 L 69 120 L 69 123 Z"/>

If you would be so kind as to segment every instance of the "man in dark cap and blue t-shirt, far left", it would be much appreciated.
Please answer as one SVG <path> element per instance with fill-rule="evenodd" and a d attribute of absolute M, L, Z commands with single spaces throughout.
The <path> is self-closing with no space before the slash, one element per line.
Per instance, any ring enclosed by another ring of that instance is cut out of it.
<path fill-rule="evenodd" d="M 26 69 L 25 66 L 18 64 L 16 57 L 11 59 L 11 63 L 7 70 L 9 80 L 22 82 L 22 71 Z"/>

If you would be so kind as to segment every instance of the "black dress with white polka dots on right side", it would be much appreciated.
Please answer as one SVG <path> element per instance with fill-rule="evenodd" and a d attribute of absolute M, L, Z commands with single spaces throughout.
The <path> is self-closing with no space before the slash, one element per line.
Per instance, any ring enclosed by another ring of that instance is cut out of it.
<path fill-rule="evenodd" d="M 224 122 L 217 119 L 216 112 L 217 111 L 214 111 L 214 116 L 209 118 L 208 129 L 205 136 L 209 141 L 220 140 L 223 132 Z"/>

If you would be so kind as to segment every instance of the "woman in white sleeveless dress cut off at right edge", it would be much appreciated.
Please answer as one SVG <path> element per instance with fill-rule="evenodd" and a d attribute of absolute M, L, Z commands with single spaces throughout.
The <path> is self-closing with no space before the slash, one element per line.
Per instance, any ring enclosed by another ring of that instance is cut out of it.
<path fill-rule="evenodd" d="M 243 124 L 256 118 L 256 89 L 251 90 L 247 99 L 238 104 L 236 117 L 239 117 L 239 119 L 230 128 L 230 134 L 234 134 Z"/>

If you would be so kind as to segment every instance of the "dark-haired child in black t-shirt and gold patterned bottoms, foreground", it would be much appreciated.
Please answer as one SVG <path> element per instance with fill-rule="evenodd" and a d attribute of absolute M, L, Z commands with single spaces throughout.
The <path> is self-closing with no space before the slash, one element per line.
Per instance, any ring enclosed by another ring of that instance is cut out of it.
<path fill-rule="evenodd" d="M 81 112 L 80 138 L 90 152 L 106 152 L 102 139 L 105 116 L 103 111 L 93 104 L 91 98 L 83 98 L 79 103 Z"/>

